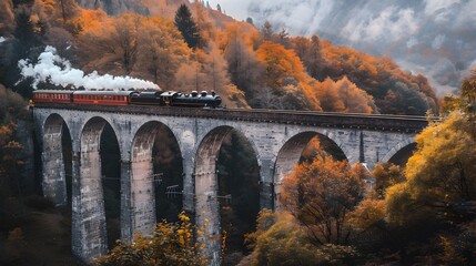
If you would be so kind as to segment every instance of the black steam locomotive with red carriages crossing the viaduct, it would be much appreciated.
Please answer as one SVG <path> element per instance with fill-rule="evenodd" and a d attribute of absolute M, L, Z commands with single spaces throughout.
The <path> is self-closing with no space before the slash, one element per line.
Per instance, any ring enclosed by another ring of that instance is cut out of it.
<path fill-rule="evenodd" d="M 34 103 L 77 103 L 101 105 L 159 105 L 184 108 L 222 108 L 222 99 L 212 91 L 182 93 L 176 91 L 67 91 L 67 90 L 37 90 L 33 91 Z"/>

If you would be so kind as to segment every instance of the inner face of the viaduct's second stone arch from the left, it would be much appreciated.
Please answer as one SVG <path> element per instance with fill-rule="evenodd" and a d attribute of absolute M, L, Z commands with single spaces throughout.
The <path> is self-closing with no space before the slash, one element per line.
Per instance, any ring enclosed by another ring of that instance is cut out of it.
<path fill-rule="evenodd" d="M 82 257 L 92 258 L 108 250 L 105 226 L 104 192 L 101 180 L 100 141 L 104 126 L 111 125 L 117 139 L 118 133 L 107 120 L 94 116 L 87 121 L 80 136 L 80 162 L 78 188 L 73 190 L 73 228 L 78 228 L 75 238 L 82 239 Z M 74 248 L 74 245 L 73 245 Z"/>

